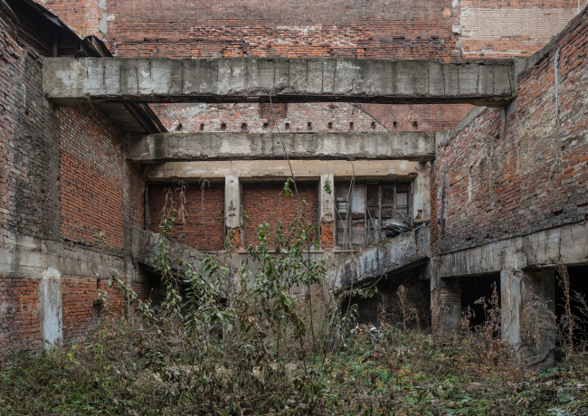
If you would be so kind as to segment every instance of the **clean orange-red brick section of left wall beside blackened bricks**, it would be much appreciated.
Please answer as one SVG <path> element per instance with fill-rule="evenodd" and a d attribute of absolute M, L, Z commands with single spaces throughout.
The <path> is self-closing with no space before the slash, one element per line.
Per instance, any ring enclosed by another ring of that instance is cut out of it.
<path fill-rule="evenodd" d="M 124 215 L 119 129 L 89 104 L 59 111 L 62 236 L 90 243 L 100 228 L 109 233 L 109 244 L 120 249 Z"/>

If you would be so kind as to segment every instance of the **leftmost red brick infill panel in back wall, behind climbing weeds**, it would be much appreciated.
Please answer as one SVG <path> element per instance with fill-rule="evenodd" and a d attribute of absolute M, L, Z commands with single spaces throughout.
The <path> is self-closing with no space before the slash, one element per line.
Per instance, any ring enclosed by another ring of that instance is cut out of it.
<path fill-rule="evenodd" d="M 158 232 L 166 189 L 175 191 L 175 209 L 179 209 L 177 184 L 149 185 L 151 231 Z M 175 215 L 177 217 L 177 215 Z M 200 251 L 221 251 L 224 247 L 224 184 L 188 184 L 185 192 L 185 225 L 177 222 L 172 238 Z"/>

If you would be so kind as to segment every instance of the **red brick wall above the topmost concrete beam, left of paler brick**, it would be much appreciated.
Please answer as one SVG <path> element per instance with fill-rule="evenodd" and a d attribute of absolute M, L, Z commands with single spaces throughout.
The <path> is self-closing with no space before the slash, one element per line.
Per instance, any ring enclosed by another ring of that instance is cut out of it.
<path fill-rule="evenodd" d="M 108 0 L 121 56 L 455 59 L 448 1 Z"/>

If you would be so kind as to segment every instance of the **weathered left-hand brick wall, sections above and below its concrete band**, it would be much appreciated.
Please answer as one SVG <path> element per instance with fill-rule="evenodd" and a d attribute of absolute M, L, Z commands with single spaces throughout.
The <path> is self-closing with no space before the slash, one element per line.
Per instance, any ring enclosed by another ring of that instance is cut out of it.
<path fill-rule="evenodd" d="M 0 61 L 1 227 L 16 236 L 84 244 L 90 244 L 94 229 L 100 227 L 119 250 L 123 245 L 119 130 L 90 105 L 52 106 L 43 95 L 40 56 L 19 46 L 4 30 L 0 30 Z M 128 175 L 128 222 L 139 225 L 144 221 L 142 179 L 136 169 Z M 15 267 L 17 262 L 6 264 Z M 34 351 L 42 345 L 41 276 L 24 278 L 21 271 L 0 270 L 0 365 L 13 352 Z M 63 277 L 66 338 L 87 330 L 97 288 L 96 279 Z M 119 291 L 109 291 L 113 309 L 120 312 Z"/>

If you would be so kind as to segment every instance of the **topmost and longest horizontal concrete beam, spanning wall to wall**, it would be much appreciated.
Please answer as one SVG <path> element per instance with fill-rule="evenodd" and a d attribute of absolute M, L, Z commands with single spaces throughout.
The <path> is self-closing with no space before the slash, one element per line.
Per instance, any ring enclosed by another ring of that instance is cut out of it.
<path fill-rule="evenodd" d="M 472 103 L 502 106 L 513 61 L 45 58 L 43 87 L 58 105 L 95 102 Z"/>

